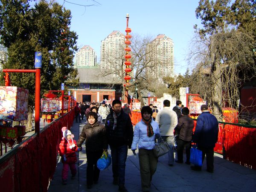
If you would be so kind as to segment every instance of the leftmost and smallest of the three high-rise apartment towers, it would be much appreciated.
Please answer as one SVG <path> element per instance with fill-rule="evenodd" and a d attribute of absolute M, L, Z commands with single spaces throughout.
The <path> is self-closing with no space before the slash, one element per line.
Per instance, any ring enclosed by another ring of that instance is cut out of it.
<path fill-rule="evenodd" d="M 85 45 L 76 53 L 74 67 L 95 67 L 96 61 L 97 55 L 94 49 L 91 48 L 89 45 Z"/>

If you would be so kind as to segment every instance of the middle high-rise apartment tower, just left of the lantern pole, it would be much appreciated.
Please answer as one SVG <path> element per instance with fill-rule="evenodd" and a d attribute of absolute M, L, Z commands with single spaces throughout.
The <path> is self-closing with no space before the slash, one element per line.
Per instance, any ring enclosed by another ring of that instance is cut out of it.
<path fill-rule="evenodd" d="M 113 31 L 101 42 L 101 67 L 110 69 L 122 63 L 124 57 L 125 35 L 119 31 Z"/>

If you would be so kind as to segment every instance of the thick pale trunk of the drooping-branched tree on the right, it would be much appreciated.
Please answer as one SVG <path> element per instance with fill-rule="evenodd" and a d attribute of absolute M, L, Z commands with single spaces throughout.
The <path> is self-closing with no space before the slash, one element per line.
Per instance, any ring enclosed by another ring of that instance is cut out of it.
<path fill-rule="evenodd" d="M 212 113 L 218 119 L 222 120 L 222 85 L 221 85 L 221 65 L 215 64 L 215 70 L 212 73 Z"/>

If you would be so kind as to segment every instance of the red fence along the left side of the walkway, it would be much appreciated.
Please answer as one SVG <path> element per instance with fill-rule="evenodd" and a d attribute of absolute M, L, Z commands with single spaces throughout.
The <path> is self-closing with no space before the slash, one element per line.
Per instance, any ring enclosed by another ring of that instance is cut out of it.
<path fill-rule="evenodd" d="M 61 128 L 70 129 L 74 110 L 56 119 L 0 158 L 0 183 L 4 192 L 47 192 L 57 164 Z"/>

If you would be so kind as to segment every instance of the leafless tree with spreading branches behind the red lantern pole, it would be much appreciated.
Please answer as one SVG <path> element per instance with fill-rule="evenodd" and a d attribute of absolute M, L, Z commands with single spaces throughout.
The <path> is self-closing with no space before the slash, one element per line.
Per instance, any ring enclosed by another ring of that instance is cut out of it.
<path fill-rule="evenodd" d="M 135 91 L 136 82 L 138 89 L 137 93 L 139 96 L 138 99 L 140 99 L 141 102 L 143 101 L 143 99 L 140 95 L 140 90 L 148 89 L 154 91 L 155 87 L 158 87 L 155 86 L 155 84 L 159 84 L 158 80 L 160 78 L 158 74 L 152 75 L 149 71 L 152 68 L 156 67 L 156 65 L 164 65 L 160 58 L 156 58 L 153 56 L 154 47 L 148 48 L 148 45 L 152 41 L 152 39 L 153 38 L 149 36 L 141 37 L 136 34 L 134 34 L 131 38 L 130 68 L 132 70 L 131 77 L 133 80 L 130 82 L 130 85 L 128 87 L 132 90 L 132 92 Z M 157 44 L 154 44 L 154 46 L 157 46 Z M 113 74 L 116 76 L 116 78 L 122 80 L 123 84 L 125 84 L 125 47 L 123 45 L 123 42 L 120 43 L 119 47 L 122 47 L 121 49 L 123 51 L 109 52 L 107 58 L 104 58 L 104 61 L 106 61 L 106 69 L 104 70 L 104 73 L 102 73 L 102 76 Z M 144 105 L 143 102 L 142 105 Z"/>

